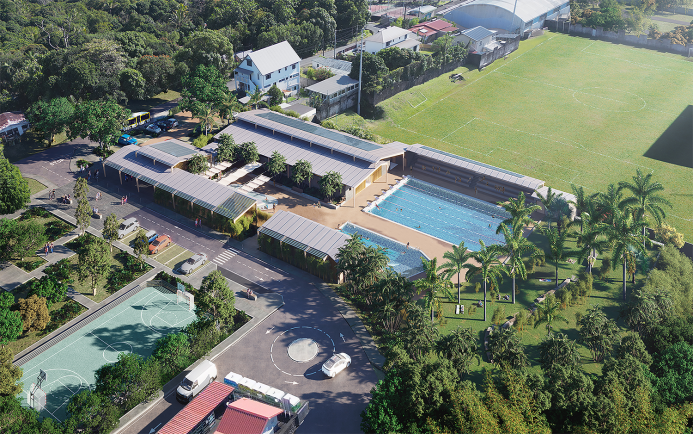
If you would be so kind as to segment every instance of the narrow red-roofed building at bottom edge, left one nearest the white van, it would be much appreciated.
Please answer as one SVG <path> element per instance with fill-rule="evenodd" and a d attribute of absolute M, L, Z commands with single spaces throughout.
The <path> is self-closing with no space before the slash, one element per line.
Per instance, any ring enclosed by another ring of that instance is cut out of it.
<path fill-rule="evenodd" d="M 202 424 L 211 425 L 217 417 L 215 410 L 221 413 L 232 393 L 233 387 L 228 384 L 211 383 L 164 425 L 159 434 L 188 434 Z"/>

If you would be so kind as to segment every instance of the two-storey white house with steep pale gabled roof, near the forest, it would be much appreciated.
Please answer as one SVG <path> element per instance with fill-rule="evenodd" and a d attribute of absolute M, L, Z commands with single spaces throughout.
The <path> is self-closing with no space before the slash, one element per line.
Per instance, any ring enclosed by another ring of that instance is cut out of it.
<path fill-rule="evenodd" d="M 267 92 L 273 84 L 291 94 L 300 87 L 301 58 L 284 41 L 249 53 L 234 71 L 238 89 L 248 93 L 260 88 Z"/>

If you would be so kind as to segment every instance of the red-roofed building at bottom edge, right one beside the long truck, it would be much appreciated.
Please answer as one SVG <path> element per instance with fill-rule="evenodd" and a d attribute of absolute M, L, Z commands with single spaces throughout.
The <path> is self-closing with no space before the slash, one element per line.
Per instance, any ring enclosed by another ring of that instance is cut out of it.
<path fill-rule="evenodd" d="M 272 433 L 281 413 L 277 407 L 241 398 L 228 405 L 214 434 Z"/>

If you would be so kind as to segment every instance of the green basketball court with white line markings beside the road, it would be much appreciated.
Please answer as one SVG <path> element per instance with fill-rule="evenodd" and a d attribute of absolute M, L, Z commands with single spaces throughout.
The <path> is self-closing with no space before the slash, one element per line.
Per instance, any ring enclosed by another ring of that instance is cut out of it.
<path fill-rule="evenodd" d="M 21 365 L 24 396 L 40 370 L 46 373 L 41 390 L 46 395 L 42 416 L 62 421 L 73 394 L 91 388 L 94 373 L 118 360 L 119 353 L 147 357 L 157 339 L 175 333 L 195 319 L 194 311 L 175 293 L 163 287 L 140 286 L 139 291 L 88 324 Z"/>

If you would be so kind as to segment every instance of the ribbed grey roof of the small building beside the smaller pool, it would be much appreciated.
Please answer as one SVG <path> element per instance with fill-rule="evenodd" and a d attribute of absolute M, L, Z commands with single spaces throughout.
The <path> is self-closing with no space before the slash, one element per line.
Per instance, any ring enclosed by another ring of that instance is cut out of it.
<path fill-rule="evenodd" d="M 336 260 L 339 248 L 349 239 L 341 231 L 282 210 L 275 212 L 259 232 L 321 259 L 329 256 Z"/>

